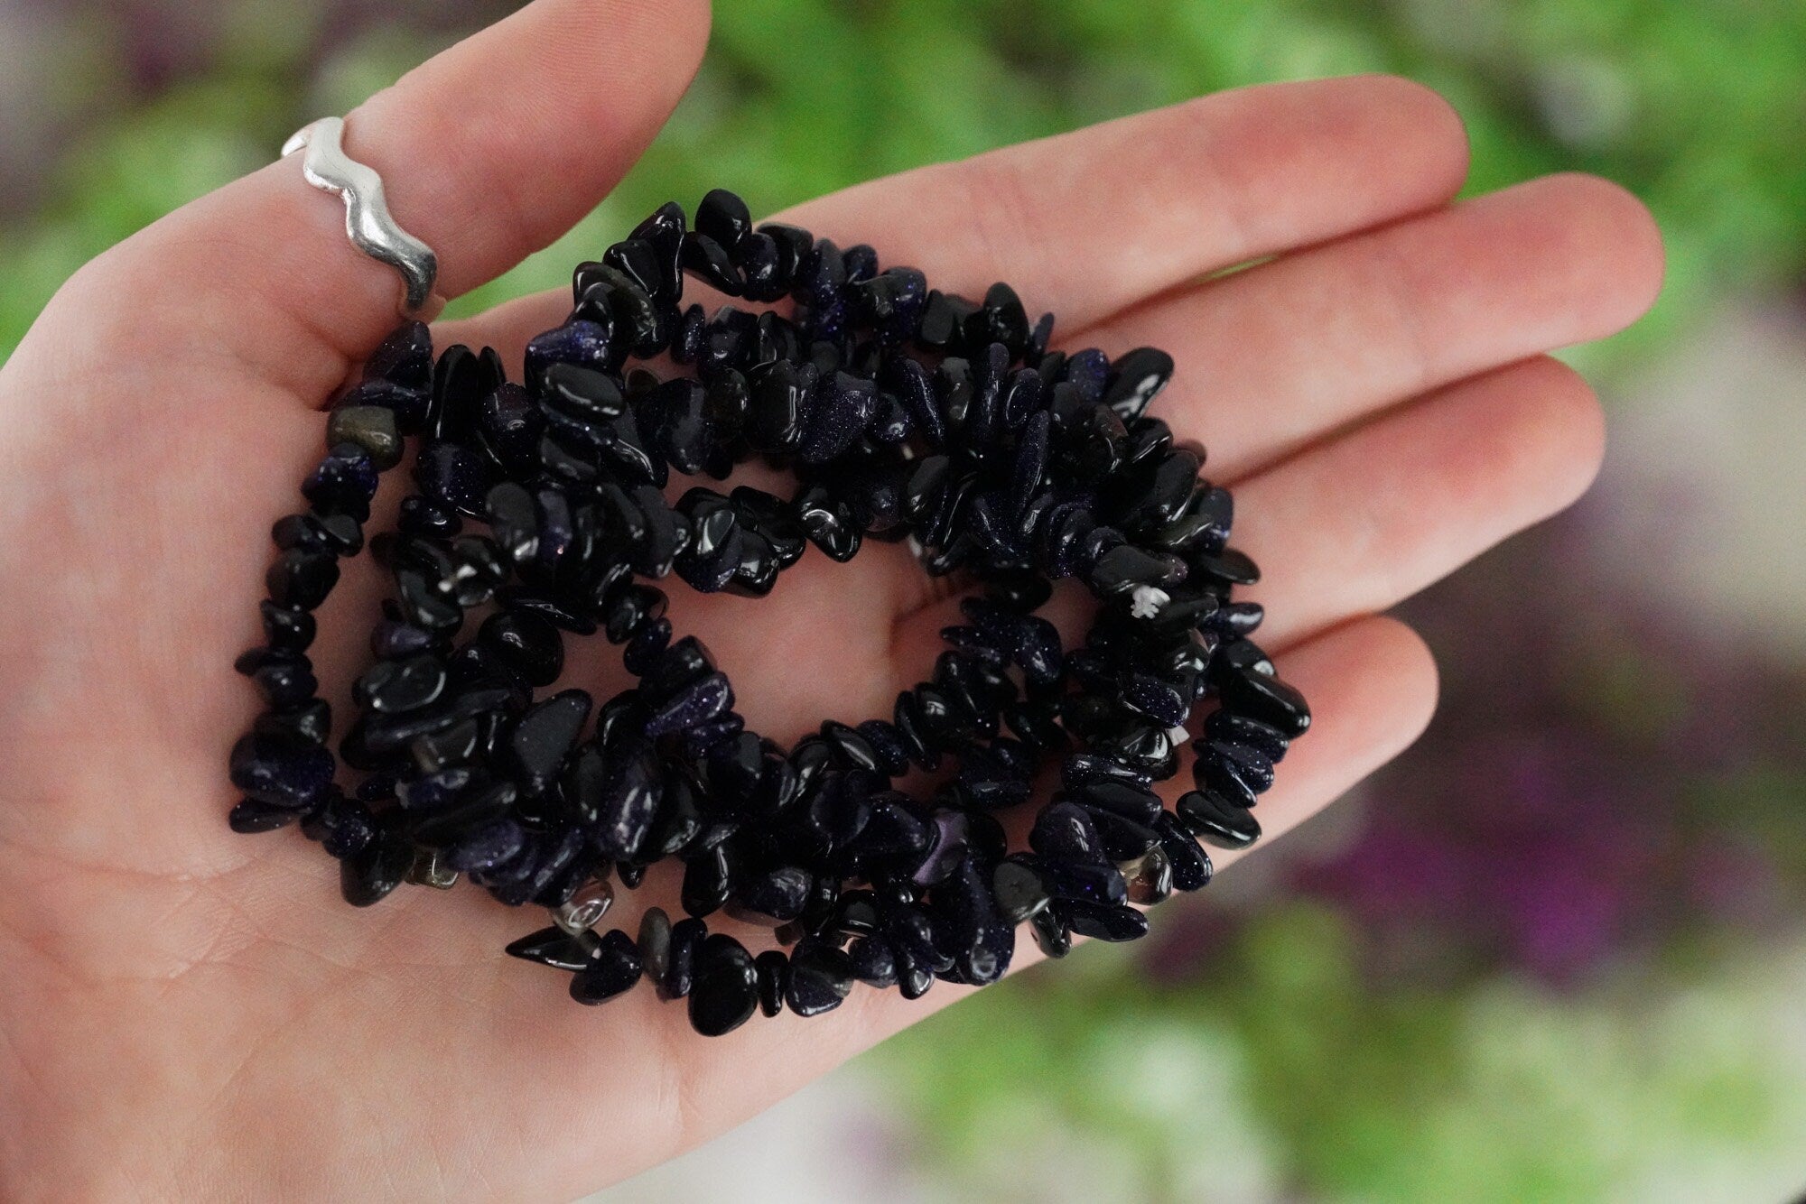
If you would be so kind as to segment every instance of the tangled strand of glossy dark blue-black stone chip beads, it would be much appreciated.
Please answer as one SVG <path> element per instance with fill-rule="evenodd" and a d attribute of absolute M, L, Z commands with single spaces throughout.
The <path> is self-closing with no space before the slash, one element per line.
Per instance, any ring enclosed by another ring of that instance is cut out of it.
<path fill-rule="evenodd" d="M 683 307 L 684 274 L 760 309 Z M 782 301 L 791 316 L 764 309 Z M 1073 933 L 1143 935 L 1132 904 L 1210 881 L 1197 839 L 1259 836 L 1252 807 L 1309 711 L 1248 639 L 1261 607 L 1230 597 L 1257 578 L 1226 545 L 1230 495 L 1147 413 L 1172 359 L 1049 350 L 1051 332 L 1008 285 L 932 291 L 867 245 L 755 227 L 722 190 L 694 227 L 666 204 L 580 265 L 524 381 L 488 348 L 435 356 L 405 323 L 327 419 L 307 509 L 273 529 L 265 646 L 238 659 L 267 711 L 231 753 L 233 829 L 300 821 L 359 906 L 464 875 L 549 908 L 509 953 L 569 971 L 583 1004 L 648 978 L 712 1036 L 755 1011 L 829 1011 L 854 982 L 908 998 L 993 982 L 1022 922 L 1051 957 Z M 681 372 L 645 366 L 661 356 Z M 370 540 L 394 588 L 334 756 L 312 612 L 410 437 L 417 493 Z M 795 496 L 666 500 L 672 473 L 722 482 L 749 458 L 787 469 Z M 863 540 L 959 572 L 964 623 L 889 717 L 831 718 L 786 749 L 746 727 L 650 581 L 760 597 L 809 543 L 845 561 Z M 1075 648 L 1037 614 L 1062 578 L 1096 597 Z M 598 632 L 636 684 L 600 706 L 542 695 L 565 637 Z M 1168 810 L 1154 783 L 1206 699 L 1196 789 Z M 1058 787 L 1011 850 L 997 812 L 1053 762 Z M 672 857 L 684 917 L 654 906 L 636 933 L 600 931 L 614 883 Z M 778 948 L 712 933 L 715 913 L 775 928 Z"/>

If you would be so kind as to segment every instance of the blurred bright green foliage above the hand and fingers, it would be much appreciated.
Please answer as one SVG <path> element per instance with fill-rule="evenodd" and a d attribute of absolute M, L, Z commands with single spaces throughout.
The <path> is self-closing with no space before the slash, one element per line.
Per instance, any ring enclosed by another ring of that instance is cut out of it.
<path fill-rule="evenodd" d="M 206 79 L 126 108 L 7 231 L 0 348 L 85 258 L 255 168 L 432 47 L 396 27 L 309 76 L 305 11 L 231 23 Z M 616 197 L 453 312 L 562 283 L 630 215 L 731 181 L 755 211 L 919 162 L 1243 83 L 1392 70 L 1441 88 L 1474 141 L 1472 190 L 1600 171 L 1669 238 L 1652 320 L 1591 352 L 1634 359 L 1728 289 L 1806 267 L 1806 5 L 1793 0 L 733 0 L 697 87 Z"/>

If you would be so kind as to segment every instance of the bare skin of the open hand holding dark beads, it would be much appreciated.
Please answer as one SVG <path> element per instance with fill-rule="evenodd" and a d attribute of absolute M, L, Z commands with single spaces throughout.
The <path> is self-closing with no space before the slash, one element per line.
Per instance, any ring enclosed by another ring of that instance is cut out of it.
<path fill-rule="evenodd" d="M 607 195 L 706 36 L 699 0 L 538 0 L 350 114 L 347 150 L 457 296 Z M 1658 233 L 1620 188 L 1564 175 L 1454 202 L 1465 170 L 1439 97 L 1354 78 L 1208 96 L 782 215 L 943 289 L 1008 280 L 1060 316 L 1062 345 L 1174 354 L 1156 413 L 1235 489 L 1262 644 L 1317 717 L 1261 803 L 1270 839 L 1421 731 L 1430 655 L 1376 614 L 1586 489 L 1600 410 L 1546 352 L 1618 330 L 1660 287 Z M 231 661 L 258 643 L 269 523 L 320 455 L 321 410 L 394 327 L 396 289 L 276 162 L 83 267 L 0 368 L 7 1200 L 567 1199 L 964 993 L 858 987 L 833 1014 L 703 1040 L 647 989 L 573 1005 L 560 975 L 502 955 L 535 921 L 482 892 L 354 910 L 296 832 L 228 832 L 226 753 L 256 711 Z M 435 338 L 518 368 L 565 309 L 526 298 Z M 321 612 L 314 659 L 340 695 L 379 590 L 356 561 Z M 887 713 L 952 605 L 872 545 L 851 565 L 811 551 L 764 603 L 674 590 L 672 610 L 786 738 Z M 567 679 L 618 688 L 614 650 L 573 644 Z M 632 931 L 674 895 L 656 870 L 610 922 Z"/>

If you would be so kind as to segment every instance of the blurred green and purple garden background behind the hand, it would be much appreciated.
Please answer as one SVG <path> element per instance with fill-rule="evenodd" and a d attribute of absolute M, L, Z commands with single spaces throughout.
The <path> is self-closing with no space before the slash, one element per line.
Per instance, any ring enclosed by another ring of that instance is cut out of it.
<path fill-rule="evenodd" d="M 0 0 L 0 356 L 83 260 L 504 0 Z M 1472 190 L 1656 211 L 1658 310 L 1571 357 L 1606 475 L 1403 612 L 1441 713 L 1161 912 L 603 1200 L 1783 1200 L 1806 1188 L 1806 4 L 722 0 L 618 195 L 755 211 L 1241 83 L 1441 88 Z M 1208 440 L 1208 431 L 1205 431 Z"/>

